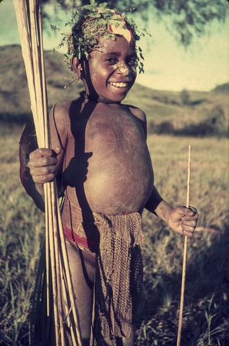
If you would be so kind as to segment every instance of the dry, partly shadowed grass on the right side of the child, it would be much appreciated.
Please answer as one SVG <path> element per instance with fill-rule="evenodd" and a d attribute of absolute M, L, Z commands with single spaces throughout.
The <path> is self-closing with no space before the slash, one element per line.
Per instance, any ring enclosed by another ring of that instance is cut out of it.
<path fill-rule="evenodd" d="M 229 341 L 227 140 L 149 137 L 156 185 L 173 205 L 185 204 L 189 143 L 190 203 L 199 210 L 202 230 L 188 242 L 181 345 L 224 345 Z M 147 248 L 138 345 L 176 345 L 183 239 L 148 212 L 143 220 Z"/>

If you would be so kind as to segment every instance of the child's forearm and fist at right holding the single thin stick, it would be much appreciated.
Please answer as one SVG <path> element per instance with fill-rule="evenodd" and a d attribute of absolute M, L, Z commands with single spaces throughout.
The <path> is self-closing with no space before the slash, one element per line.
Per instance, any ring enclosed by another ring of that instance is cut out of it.
<path fill-rule="evenodd" d="M 183 206 L 172 208 L 170 204 L 163 200 L 155 187 L 145 208 L 165 221 L 174 232 L 187 237 L 193 236 L 199 217 L 195 208 L 185 208 Z"/>

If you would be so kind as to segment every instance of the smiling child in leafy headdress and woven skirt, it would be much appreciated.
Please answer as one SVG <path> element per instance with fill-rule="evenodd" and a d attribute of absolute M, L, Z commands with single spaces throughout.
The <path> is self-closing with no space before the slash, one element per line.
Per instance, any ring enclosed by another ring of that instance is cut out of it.
<path fill-rule="evenodd" d="M 143 279 L 143 208 L 187 237 L 198 214 L 162 199 L 154 186 L 145 113 L 121 103 L 136 80 L 134 24 L 91 6 L 70 38 L 71 66 L 85 91 L 51 110 L 52 150 L 35 149 L 26 127 L 21 181 L 43 210 L 44 183 L 56 178 L 64 194 L 62 223 L 84 345 L 91 330 L 93 345 L 133 345 Z"/>

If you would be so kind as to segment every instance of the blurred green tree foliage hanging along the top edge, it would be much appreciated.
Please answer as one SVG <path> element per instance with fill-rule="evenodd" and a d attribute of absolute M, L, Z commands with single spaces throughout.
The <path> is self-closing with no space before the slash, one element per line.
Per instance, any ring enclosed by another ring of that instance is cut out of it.
<path fill-rule="evenodd" d="M 75 3 L 75 6 L 86 5 L 89 0 L 43 0 L 43 3 L 53 3 L 57 8 L 57 3 L 63 9 Z M 104 1 L 96 1 L 102 3 Z M 204 35 L 208 24 L 212 21 L 225 21 L 228 15 L 228 0 L 107 0 L 110 8 L 120 11 L 126 8 L 138 8 L 138 12 L 145 21 L 151 20 L 154 13 L 158 19 L 170 18 L 170 25 L 167 26 L 170 32 L 174 33 L 178 42 L 184 46 L 190 45 L 193 36 Z"/>

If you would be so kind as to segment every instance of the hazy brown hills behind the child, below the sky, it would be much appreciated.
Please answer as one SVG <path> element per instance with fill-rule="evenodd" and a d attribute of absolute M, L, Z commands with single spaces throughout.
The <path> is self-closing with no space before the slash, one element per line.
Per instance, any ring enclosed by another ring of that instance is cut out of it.
<path fill-rule="evenodd" d="M 45 52 L 48 103 L 76 98 L 81 82 L 73 81 L 59 53 Z M 228 129 L 228 86 L 210 92 L 158 91 L 135 84 L 125 102 L 145 111 L 149 131 L 174 134 L 226 134 Z M 30 102 L 20 46 L 3 46 L 0 55 L 0 120 L 25 122 Z"/>

